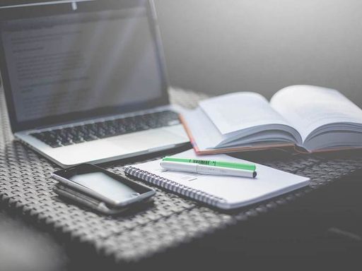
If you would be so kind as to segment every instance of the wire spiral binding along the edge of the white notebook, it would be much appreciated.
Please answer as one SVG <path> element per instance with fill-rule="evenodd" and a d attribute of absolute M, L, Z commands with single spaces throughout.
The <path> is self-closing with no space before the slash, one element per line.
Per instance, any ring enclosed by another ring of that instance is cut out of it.
<path fill-rule="evenodd" d="M 128 176 L 134 176 L 137 179 L 147 181 L 148 183 L 153 183 L 154 185 L 165 188 L 168 191 L 173 191 L 180 195 L 185 195 L 188 198 L 198 200 L 199 202 L 202 203 L 206 203 L 216 207 L 218 206 L 219 203 L 224 203 L 224 202 L 226 203 L 226 200 L 224 200 L 223 198 L 216 197 L 214 195 L 205 193 L 203 191 L 199 191 L 194 188 L 190 188 L 189 186 L 184 186 L 181 183 L 176 183 L 175 181 L 165 179 L 161 176 L 151 174 L 141 169 L 136 169 L 135 167 L 126 167 L 124 169 L 124 172 Z"/>

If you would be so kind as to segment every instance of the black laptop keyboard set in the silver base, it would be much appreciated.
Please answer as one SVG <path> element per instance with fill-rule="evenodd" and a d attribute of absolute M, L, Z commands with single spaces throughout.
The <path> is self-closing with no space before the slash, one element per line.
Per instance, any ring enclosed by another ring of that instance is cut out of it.
<path fill-rule="evenodd" d="M 92 124 L 59 128 L 52 131 L 31 133 L 30 135 L 33 135 L 51 147 L 62 147 L 176 124 L 180 124 L 178 114 L 166 110 L 138 116 L 128 116 L 122 119 L 112 119 Z"/>

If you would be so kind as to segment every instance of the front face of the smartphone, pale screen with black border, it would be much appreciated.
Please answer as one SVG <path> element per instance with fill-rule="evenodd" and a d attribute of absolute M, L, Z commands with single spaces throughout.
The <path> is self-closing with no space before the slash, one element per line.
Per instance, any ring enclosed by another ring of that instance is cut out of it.
<path fill-rule="evenodd" d="M 125 200 L 136 198 L 142 193 L 153 191 L 151 188 L 141 186 L 91 164 L 82 164 L 71 169 L 57 171 L 54 174 L 62 176 L 78 186 L 88 188 L 113 203 L 122 203 Z"/>

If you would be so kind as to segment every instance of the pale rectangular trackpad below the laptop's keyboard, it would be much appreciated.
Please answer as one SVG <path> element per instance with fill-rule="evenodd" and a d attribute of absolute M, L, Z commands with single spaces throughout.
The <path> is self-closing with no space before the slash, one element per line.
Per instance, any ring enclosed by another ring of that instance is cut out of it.
<path fill-rule="evenodd" d="M 129 152 L 136 152 L 155 147 L 185 143 L 185 137 L 175 135 L 175 133 L 170 133 L 166 129 L 160 128 L 129 135 L 119 135 L 115 138 L 110 138 L 108 141 Z"/>

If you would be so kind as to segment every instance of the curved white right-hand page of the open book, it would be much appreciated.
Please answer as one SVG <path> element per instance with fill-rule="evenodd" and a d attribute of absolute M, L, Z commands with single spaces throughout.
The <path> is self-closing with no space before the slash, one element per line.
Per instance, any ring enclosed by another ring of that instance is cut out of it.
<path fill-rule="evenodd" d="M 362 110 L 337 90 L 313 85 L 293 85 L 276 92 L 271 107 L 302 135 L 333 123 L 362 124 Z"/>

